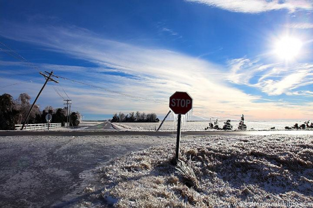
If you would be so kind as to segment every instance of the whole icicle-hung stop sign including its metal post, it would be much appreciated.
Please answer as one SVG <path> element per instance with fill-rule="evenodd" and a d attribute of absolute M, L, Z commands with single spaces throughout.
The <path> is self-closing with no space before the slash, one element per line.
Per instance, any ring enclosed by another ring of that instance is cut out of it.
<path fill-rule="evenodd" d="M 177 120 L 177 138 L 176 138 L 176 162 L 179 159 L 179 146 L 180 146 L 180 134 L 181 134 L 181 118 L 192 109 L 192 97 L 187 92 L 175 92 L 170 97 L 170 109 L 178 114 Z"/>

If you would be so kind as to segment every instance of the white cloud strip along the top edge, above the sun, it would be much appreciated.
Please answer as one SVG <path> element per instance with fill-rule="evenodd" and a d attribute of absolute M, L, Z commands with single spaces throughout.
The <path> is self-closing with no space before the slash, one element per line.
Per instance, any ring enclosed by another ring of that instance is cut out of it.
<path fill-rule="evenodd" d="M 271 10 L 286 9 L 290 12 L 296 10 L 312 10 L 313 4 L 310 0 L 186 0 L 187 2 L 195 2 L 205 4 L 211 7 L 218 7 L 232 12 L 242 13 L 260 13 Z"/>

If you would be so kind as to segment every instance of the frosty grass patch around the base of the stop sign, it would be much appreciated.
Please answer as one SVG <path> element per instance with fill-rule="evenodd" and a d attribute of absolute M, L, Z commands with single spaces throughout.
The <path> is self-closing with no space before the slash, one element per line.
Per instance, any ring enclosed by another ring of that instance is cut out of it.
<path fill-rule="evenodd" d="M 100 169 L 114 207 L 313 205 L 313 137 L 212 136 L 151 147 Z M 107 205 L 106 205 L 107 206 Z"/>

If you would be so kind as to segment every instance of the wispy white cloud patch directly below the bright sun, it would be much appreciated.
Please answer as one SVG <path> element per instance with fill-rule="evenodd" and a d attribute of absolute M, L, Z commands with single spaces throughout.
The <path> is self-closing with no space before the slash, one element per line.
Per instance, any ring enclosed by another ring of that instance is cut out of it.
<path fill-rule="evenodd" d="M 268 95 L 292 94 L 301 86 L 312 84 L 312 64 L 263 65 L 259 61 L 234 59 L 229 62 L 231 75 L 228 79 L 236 84 L 259 88 Z"/>

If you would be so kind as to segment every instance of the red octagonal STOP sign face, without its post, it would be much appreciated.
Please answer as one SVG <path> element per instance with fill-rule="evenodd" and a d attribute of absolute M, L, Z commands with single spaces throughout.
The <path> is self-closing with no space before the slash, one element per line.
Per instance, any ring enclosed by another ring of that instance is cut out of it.
<path fill-rule="evenodd" d="M 192 97 L 187 92 L 175 92 L 170 97 L 170 109 L 175 114 L 186 114 L 192 109 Z"/>

